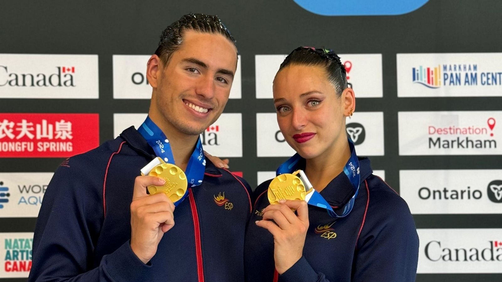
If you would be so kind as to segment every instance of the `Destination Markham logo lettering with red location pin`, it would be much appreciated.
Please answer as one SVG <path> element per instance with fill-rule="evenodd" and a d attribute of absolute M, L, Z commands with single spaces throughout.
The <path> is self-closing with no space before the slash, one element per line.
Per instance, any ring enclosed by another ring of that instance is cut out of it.
<path fill-rule="evenodd" d="M 496 120 L 489 117 L 483 126 L 457 126 L 438 127 L 428 126 L 429 149 L 496 149 L 497 142 L 493 136 Z M 456 138 L 449 136 L 456 135 Z M 475 136 L 475 137 L 469 137 Z"/>

